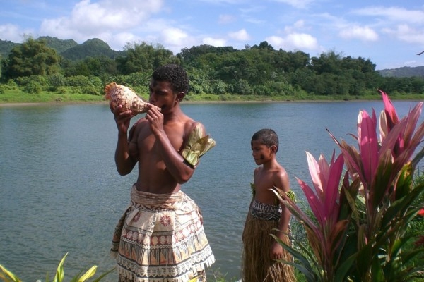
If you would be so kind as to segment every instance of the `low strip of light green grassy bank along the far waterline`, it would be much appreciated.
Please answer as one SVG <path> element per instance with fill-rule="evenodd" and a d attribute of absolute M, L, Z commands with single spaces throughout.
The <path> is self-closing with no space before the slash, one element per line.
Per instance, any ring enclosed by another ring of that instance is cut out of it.
<path fill-rule="evenodd" d="M 392 100 L 416 100 L 423 101 L 424 94 L 389 94 Z M 141 96 L 147 99 L 147 95 Z M 232 94 L 188 94 L 184 102 L 300 102 L 300 101 L 372 101 L 381 97 L 376 91 L 375 94 L 364 96 L 258 96 L 258 95 L 232 95 Z M 105 102 L 102 95 L 93 94 L 58 94 L 55 92 L 40 92 L 38 94 L 28 94 L 20 90 L 6 90 L 0 92 L 0 104 L 21 104 L 21 103 L 93 103 Z"/>

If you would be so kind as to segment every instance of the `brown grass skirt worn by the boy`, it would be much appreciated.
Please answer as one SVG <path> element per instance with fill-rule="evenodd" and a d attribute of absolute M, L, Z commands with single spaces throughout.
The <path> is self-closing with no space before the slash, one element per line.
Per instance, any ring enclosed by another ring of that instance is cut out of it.
<path fill-rule="evenodd" d="M 243 231 L 242 277 L 245 282 L 294 282 L 293 266 L 271 259 L 271 245 L 278 228 L 278 221 L 256 219 L 247 215 Z M 285 243 L 290 240 L 285 236 Z M 283 260 L 290 262 L 291 256 L 283 250 Z"/>

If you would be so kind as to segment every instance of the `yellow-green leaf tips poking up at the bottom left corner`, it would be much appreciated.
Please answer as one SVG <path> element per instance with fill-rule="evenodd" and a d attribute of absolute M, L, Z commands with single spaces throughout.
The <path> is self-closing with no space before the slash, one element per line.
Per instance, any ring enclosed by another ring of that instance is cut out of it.
<path fill-rule="evenodd" d="M 61 262 L 57 266 L 56 275 L 54 275 L 52 282 L 62 282 L 62 281 L 64 281 L 64 262 L 65 262 L 67 255 L 68 255 L 68 253 L 66 252 L 66 255 L 64 255 L 64 257 L 61 259 Z M 95 278 L 95 280 L 93 280 L 93 282 L 98 282 L 98 281 L 102 280 L 102 278 L 107 276 L 107 274 L 110 274 L 112 271 L 114 271 L 114 269 L 115 268 L 112 268 L 109 271 L 106 271 L 104 274 L 100 275 L 98 278 Z M 1 270 L 1 272 L 0 272 L 0 279 L 1 280 L 5 281 L 5 282 L 12 282 L 12 281 L 13 282 L 21 282 L 21 280 L 20 280 L 20 278 L 18 278 L 18 276 L 13 274 L 11 271 L 8 271 L 1 264 L 0 264 L 0 270 Z M 91 266 L 91 268 L 88 269 L 88 271 L 86 271 L 85 274 L 81 275 L 81 272 L 80 272 L 79 274 L 77 274 L 76 276 L 71 278 L 70 282 L 86 281 L 89 278 L 94 276 L 96 270 L 97 270 L 97 266 L 95 266 L 95 265 Z M 46 282 L 49 282 L 49 275 L 48 274 L 47 274 Z"/>

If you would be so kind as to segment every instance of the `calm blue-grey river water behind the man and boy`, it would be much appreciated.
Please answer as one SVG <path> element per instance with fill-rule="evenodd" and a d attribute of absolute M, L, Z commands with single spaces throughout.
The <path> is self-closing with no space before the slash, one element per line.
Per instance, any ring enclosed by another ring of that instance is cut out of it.
<path fill-rule="evenodd" d="M 416 102 L 394 102 L 399 116 Z M 204 214 L 216 256 L 211 268 L 240 277 L 241 234 L 256 167 L 250 138 L 261 128 L 280 137 L 278 161 L 310 183 L 305 151 L 327 159 L 336 149 L 326 128 L 354 144 L 358 111 L 382 102 L 183 104 L 216 140 L 183 186 Z M 423 121 L 423 116 L 421 117 Z M 117 128 L 107 104 L 0 107 L 0 264 L 23 281 L 54 276 L 69 252 L 66 277 L 98 265 L 111 269 L 110 240 L 129 203 L 136 173 L 119 176 L 114 166 Z M 338 150 L 336 150 L 338 153 Z M 300 193 L 298 193 L 300 195 Z M 211 270 L 208 276 L 212 276 Z M 105 281 L 116 281 L 116 274 Z M 213 280 L 212 280 L 213 281 Z"/>

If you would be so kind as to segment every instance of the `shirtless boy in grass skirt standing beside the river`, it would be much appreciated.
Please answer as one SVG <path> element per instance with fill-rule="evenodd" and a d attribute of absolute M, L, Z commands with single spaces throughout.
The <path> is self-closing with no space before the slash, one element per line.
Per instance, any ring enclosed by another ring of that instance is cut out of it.
<path fill-rule="evenodd" d="M 252 157 L 259 167 L 254 170 L 253 198 L 243 231 L 243 281 L 295 281 L 293 267 L 277 260 L 290 261 L 290 255 L 270 235 L 289 243 L 290 212 L 271 191 L 277 187 L 288 192 L 287 172 L 278 164 L 278 136 L 262 129 L 252 136 Z M 273 231 L 277 228 L 278 231 Z"/>

